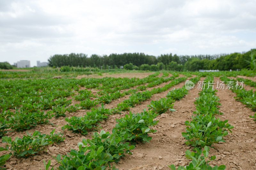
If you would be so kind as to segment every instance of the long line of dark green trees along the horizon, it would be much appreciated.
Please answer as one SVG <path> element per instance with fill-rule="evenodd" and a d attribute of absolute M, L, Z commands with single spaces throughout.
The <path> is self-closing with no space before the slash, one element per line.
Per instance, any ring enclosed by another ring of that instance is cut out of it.
<path fill-rule="evenodd" d="M 51 67 L 74 66 L 92 67 L 99 69 L 116 69 L 125 66 L 125 69 L 135 70 L 236 70 L 248 67 L 252 49 L 244 53 L 219 54 L 219 55 L 172 55 L 160 56 L 145 55 L 144 53 L 124 53 L 97 55 L 88 57 L 87 54 L 56 54 L 48 59 Z M 130 65 L 129 65 L 130 64 Z M 129 66 L 128 66 L 129 65 Z M 132 66 L 132 67 L 131 67 Z M 151 67 L 151 69 L 150 69 Z"/>

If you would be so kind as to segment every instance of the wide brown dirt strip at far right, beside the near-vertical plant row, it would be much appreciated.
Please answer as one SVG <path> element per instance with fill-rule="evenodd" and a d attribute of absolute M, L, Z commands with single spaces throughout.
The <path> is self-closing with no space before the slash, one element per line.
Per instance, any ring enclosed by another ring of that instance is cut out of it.
<path fill-rule="evenodd" d="M 214 78 L 214 82 L 220 81 L 220 78 Z M 216 155 L 212 165 L 226 165 L 226 170 L 234 169 L 255 169 L 256 168 L 256 124 L 249 115 L 254 112 L 234 99 L 236 94 L 228 89 L 218 90 L 216 96 L 220 98 L 219 115 L 221 120 L 228 120 L 228 123 L 234 126 L 232 134 L 224 137 L 226 142 L 213 144 L 214 149 L 210 148 L 209 153 Z"/>

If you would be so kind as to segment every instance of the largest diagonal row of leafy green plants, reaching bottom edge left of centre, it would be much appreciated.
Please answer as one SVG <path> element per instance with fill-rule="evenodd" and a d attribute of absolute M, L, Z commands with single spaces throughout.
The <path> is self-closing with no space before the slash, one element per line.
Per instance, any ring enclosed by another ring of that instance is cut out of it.
<path fill-rule="evenodd" d="M 173 101 L 170 98 L 151 101 L 148 111 L 144 109 L 143 112 L 137 114 L 130 112 L 123 118 L 116 119 L 117 123 L 111 134 L 103 130 L 100 134 L 94 132 L 91 140 L 83 139 L 78 143 L 78 150 L 71 149 L 67 155 L 57 155 L 55 159 L 60 164 L 57 169 L 116 169 L 113 162 L 117 163 L 125 154 L 132 154 L 130 150 L 139 141 L 149 142 L 152 139 L 148 134 L 156 132 L 152 127 L 158 121 L 154 119 L 168 109 L 172 110 Z M 158 108 L 159 106 L 161 107 Z M 102 107 L 101 109 L 107 112 L 106 114 L 109 113 L 108 110 Z M 80 131 L 74 132 L 80 133 Z M 50 167 L 50 162 L 49 160 L 45 165 L 45 169 Z"/>

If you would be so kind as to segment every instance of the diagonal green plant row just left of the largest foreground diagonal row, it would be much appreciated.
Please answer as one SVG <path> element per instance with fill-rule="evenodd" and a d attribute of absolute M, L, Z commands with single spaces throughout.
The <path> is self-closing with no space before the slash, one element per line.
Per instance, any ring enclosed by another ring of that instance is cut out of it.
<path fill-rule="evenodd" d="M 166 89 L 169 89 L 171 86 L 176 85 L 184 81 L 185 79 L 186 77 L 177 78 L 162 88 L 153 89 L 151 91 L 147 90 L 144 92 L 133 93 L 131 96 L 129 96 L 129 99 L 118 103 L 117 107 L 113 109 L 104 108 L 103 103 L 101 104 L 101 107 L 94 108 L 93 106 L 96 106 L 96 104 L 98 104 L 98 102 L 95 100 L 87 99 L 81 101 L 80 106 L 82 108 L 89 109 L 93 107 L 92 110 L 86 112 L 86 115 L 84 116 L 72 116 L 71 118 L 65 118 L 68 123 L 63 127 L 63 129 L 87 134 L 88 130 L 97 128 L 102 120 L 108 118 L 108 115 L 121 113 L 121 111 L 129 111 L 130 107 L 134 107 L 135 104 L 139 104 L 140 102 L 151 98 L 153 94 L 165 91 Z"/>

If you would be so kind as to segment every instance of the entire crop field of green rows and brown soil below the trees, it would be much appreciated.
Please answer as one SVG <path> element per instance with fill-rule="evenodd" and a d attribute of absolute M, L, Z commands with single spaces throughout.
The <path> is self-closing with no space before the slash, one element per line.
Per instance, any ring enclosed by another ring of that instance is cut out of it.
<path fill-rule="evenodd" d="M 256 168 L 250 72 L 0 77 L 0 169 Z"/>

